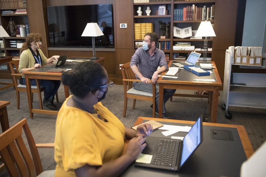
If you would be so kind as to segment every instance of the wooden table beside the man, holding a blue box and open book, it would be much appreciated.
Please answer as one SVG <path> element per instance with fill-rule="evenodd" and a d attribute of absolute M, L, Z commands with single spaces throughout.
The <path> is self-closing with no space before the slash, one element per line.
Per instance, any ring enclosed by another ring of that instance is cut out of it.
<path fill-rule="evenodd" d="M 218 74 L 217 67 L 214 62 L 213 73 L 210 76 L 197 76 L 192 72 L 185 69 L 181 69 L 175 76 L 177 79 L 160 77 L 158 79 L 159 83 L 159 118 L 162 118 L 163 113 L 163 89 L 186 89 L 186 90 L 208 90 L 209 91 L 209 111 L 211 115 L 211 122 L 215 123 L 217 119 L 217 106 L 218 106 L 218 96 L 219 87 L 222 85 L 220 76 Z M 171 66 L 172 61 L 168 63 Z M 172 65 L 172 67 L 175 65 Z M 164 75 L 164 72 L 162 75 Z M 194 81 L 193 79 L 215 79 L 215 82 L 211 81 Z M 180 96 L 180 95 L 179 95 Z M 188 96 L 188 95 L 184 95 Z"/>

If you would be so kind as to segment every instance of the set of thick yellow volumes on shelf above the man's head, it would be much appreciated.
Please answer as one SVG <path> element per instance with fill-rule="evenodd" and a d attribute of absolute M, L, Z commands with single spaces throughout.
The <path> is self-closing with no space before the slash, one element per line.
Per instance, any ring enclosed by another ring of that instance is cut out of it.
<path fill-rule="evenodd" d="M 153 32 L 153 23 L 134 23 L 135 39 L 142 39 L 146 33 Z"/>

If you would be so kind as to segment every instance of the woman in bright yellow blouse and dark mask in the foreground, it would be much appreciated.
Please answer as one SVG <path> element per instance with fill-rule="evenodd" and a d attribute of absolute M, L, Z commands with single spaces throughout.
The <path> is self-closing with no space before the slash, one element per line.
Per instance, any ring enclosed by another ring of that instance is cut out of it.
<path fill-rule="evenodd" d="M 73 95 L 59 110 L 56 120 L 55 176 L 118 176 L 146 147 L 150 124 L 137 130 L 125 127 L 100 102 L 108 86 L 106 70 L 96 62 L 83 62 L 62 74 Z M 129 138 L 122 154 L 124 139 Z"/>

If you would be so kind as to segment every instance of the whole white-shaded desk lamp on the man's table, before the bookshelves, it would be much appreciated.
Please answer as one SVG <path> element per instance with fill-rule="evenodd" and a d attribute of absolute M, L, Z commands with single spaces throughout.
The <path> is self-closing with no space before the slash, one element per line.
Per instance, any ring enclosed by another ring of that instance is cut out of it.
<path fill-rule="evenodd" d="M 207 62 L 207 51 L 208 51 L 208 46 L 207 46 L 207 37 L 214 37 L 215 32 L 213 31 L 213 27 L 211 25 L 210 21 L 202 21 L 200 23 L 200 26 L 197 30 L 197 33 L 195 34 L 195 37 L 205 37 L 204 40 L 204 46 L 203 46 L 203 61 L 202 63 L 208 63 Z"/>

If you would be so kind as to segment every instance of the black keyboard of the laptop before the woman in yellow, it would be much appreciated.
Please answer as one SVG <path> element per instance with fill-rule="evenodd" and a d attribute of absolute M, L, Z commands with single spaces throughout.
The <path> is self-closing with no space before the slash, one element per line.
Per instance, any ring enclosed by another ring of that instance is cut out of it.
<path fill-rule="evenodd" d="M 159 139 L 151 163 L 173 167 L 177 159 L 179 143 L 180 141 L 177 140 Z"/>

